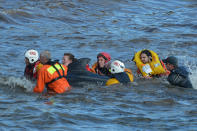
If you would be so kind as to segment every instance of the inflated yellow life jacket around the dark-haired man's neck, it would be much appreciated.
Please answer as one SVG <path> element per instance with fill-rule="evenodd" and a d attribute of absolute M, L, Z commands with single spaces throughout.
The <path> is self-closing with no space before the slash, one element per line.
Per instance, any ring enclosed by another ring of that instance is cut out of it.
<path fill-rule="evenodd" d="M 142 51 L 138 51 L 134 56 L 133 61 L 136 63 L 136 66 L 138 67 L 141 74 L 144 77 L 165 74 L 166 70 L 163 68 L 158 55 L 152 50 L 149 51 L 152 55 L 152 61 L 147 64 L 142 63 L 140 59 Z"/>

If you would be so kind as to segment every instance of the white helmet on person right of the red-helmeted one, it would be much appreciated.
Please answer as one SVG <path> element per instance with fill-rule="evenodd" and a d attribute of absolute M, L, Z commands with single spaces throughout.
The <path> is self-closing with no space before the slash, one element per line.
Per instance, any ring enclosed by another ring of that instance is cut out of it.
<path fill-rule="evenodd" d="M 112 74 L 124 72 L 124 69 L 125 69 L 124 63 L 122 63 L 119 60 L 115 60 L 111 63 Z"/>

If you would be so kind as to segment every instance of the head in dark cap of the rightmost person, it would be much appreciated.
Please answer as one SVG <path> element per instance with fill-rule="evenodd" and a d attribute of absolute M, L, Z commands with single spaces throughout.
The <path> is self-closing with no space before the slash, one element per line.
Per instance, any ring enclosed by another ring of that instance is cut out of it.
<path fill-rule="evenodd" d="M 178 66 L 178 59 L 174 56 L 169 56 L 163 62 L 166 63 L 167 69 L 170 71 Z"/>

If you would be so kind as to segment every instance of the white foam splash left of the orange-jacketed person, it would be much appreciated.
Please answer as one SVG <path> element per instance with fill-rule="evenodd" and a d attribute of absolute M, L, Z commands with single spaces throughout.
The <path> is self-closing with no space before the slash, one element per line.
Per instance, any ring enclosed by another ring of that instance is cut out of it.
<path fill-rule="evenodd" d="M 23 88 L 26 92 L 33 92 L 35 83 L 27 80 L 26 78 L 19 77 L 8 77 L 5 81 L 2 82 L 5 85 L 8 85 L 11 88 Z"/>

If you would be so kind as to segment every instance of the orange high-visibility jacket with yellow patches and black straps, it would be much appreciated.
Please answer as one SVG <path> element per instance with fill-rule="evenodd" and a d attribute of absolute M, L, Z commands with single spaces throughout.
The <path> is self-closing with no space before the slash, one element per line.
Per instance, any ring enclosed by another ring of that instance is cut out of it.
<path fill-rule="evenodd" d="M 56 63 L 54 67 L 59 71 L 61 76 L 63 76 L 63 72 L 64 72 L 64 76 L 67 75 L 66 66 Z M 40 69 L 38 73 L 37 85 L 34 88 L 34 92 L 42 93 L 47 83 L 48 83 L 47 88 L 53 90 L 56 93 L 64 93 L 65 91 L 70 90 L 70 85 L 66 80 L 66 78 L 65 77 L 58 78 L 60 77 L 60 75 L 58 74 L 58 72 L 54 67 L 52 65 L 44 65 Z"/>

